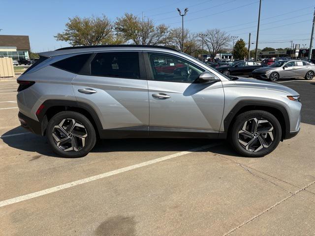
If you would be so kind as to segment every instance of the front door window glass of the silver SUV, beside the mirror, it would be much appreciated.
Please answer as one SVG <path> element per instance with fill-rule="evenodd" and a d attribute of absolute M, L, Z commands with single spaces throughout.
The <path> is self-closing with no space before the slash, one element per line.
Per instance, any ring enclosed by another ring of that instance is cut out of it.
<path fill-rule="evenodd" d="M 149 54 L 153 79 L 193 83 L 205 70 L 187 60 L 164 54 Z"/>

